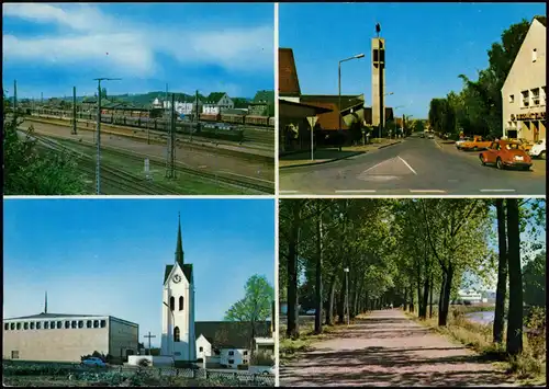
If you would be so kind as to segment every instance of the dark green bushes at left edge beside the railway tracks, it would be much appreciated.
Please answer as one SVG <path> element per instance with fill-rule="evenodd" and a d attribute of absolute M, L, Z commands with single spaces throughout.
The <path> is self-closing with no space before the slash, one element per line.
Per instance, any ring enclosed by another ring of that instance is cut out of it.
<path fill-rule="evenodd" d="M 40 152 L 32 126 L 24 138 L 18 135 L 21 123 L 18 117 L 8 119 L 4 112 L 4 195 L 85 194 L 85 179 L 75 160 L 67 155 Z"/>

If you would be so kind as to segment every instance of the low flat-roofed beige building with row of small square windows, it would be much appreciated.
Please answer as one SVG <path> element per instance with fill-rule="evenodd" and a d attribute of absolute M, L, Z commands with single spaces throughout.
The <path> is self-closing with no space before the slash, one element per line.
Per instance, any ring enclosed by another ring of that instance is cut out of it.
<path fill-rule="evenodd" d="M 3 359 L 80 362 L 94 351 L 123 362 L 137 354 L 136 323 L 97 314 L 44 313 L 3 320 Z"/>

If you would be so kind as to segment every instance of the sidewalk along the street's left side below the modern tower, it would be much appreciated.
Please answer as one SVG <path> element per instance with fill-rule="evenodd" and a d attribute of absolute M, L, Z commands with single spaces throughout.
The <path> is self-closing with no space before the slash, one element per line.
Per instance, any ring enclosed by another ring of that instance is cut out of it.
<path fill-rule="evenodd" d="M 345 146 L 339 151 L 338 148 L 326 148 L 314 150 L 314 160 L 311 160 L 311 150 L 295 153 L 288 153 L 279 157 L 279 169 L 303 167 L 310 164 L 321 164 L 338 161 L 341 159 L 359 156 L 369 151 L 374 151 L 384 147 L 400 144 L 402 139 L 382 139 L 381 142 L 366 146 Z"/>

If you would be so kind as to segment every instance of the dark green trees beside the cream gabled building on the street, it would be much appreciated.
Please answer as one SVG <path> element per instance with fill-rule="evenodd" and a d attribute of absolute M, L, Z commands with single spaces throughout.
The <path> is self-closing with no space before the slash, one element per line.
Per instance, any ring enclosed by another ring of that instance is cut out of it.
<path fill-rule="evenodd" d="M 546 16 L 536 16 L 546 23 Z M 530 22 L 523 20 L 502 33 L 501 42 L 488 50 L 489 66 L 478 71 L 478 79 L 466 75 L 459 92 L 436 98 L 429 104 L 429 123 L 438 133 L 450 133 L 457 139 L 462 130 L 468 135 L 501 137 L 503 128 L 502 88 L 511 71 Z"/>

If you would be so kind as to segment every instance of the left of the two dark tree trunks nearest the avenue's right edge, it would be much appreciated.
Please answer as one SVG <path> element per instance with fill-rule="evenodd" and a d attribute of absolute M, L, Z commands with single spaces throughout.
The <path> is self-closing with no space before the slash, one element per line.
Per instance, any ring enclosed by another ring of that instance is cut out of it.
<path fill-rule="evenodd" d="M 495 294 L 495 312 L 494 312 L 494 343 L 503 341 L 503 328 L 505 325 L 505 295 L 507 293 L 507 233 L 505 228 L 505 209 L 503 198 L 495 201 L 495 209 L 497 211 L 497 244 L 498 244 L 498 261 L 497 261 L 497 288 Z"/>

